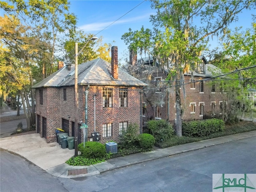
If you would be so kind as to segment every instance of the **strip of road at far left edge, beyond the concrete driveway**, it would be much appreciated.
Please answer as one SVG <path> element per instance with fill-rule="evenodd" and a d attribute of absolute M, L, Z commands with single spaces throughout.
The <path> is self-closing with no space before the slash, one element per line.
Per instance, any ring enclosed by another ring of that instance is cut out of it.
<path fill-rule="evenodd" d="M 0 123 L 0 138 L 10 136 L 13 132 L 15 132 L 18 124 L 22 122 L 23 129 L 27 128 L 26 119 L 18 119 L 7 122 Z"/>

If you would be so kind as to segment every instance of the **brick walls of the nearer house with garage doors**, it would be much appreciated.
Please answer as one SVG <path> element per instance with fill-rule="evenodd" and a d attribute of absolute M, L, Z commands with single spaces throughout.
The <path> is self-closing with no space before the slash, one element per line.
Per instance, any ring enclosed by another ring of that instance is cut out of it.
<path fill-rule="evenodd" d="M 74 122 L 74 87 L 66 89 L 66 101 L 63 97 L 63 88 L 42 88 L 43 105 L 39 104 L 39 89 L 36 89 L 36 114 L 47 119 L 46 141 L 56 142 L 56 128 L 62 128 L 62 118 L 69 120 L 69 135 L 72 134 Z M 85 122 L 85 90 L 87 86 L 78 86 L 78 123 Z M 88 89 L 88 136 L 94 132 L 94 95 L 95 96 L 95 130 L 102 135 L 102 125 L 112 123 L 112 136 L 103 138 L 101 143 L 114 140 L 119 141 L 119 122 L 137 123 L 140 125 L 140 93 L 138 88 L 128 88 L 128 107 L 119 107 L 119 87 L 108 86 L 113 89 L 111 108 L 103 108 L 102 86 L 90 86 Z M 36 122 L 37 124 L 37 122 Z M 42 123 L 41 123 L 42 124 Z M 41 137 L 42 125 L 41 125 Z M 83 136 L 82 136 L 83 138 Z M 90 138 L 88 138 L 90 140 Z"/>

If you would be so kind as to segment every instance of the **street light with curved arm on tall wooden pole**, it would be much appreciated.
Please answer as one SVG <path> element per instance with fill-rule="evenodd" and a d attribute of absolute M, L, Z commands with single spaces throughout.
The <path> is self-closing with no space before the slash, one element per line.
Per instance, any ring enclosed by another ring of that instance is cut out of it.
<path fill-rule="evenodd" d="M 97 37 L 90 38 L 86 44 L 82 47 L 82 49 L 78 52 L 78 43 L 75 44 L 75 157 L 78 154 L 77 146 L 78 146 L 78 55 L 82 52 L 85 46 L 88 44 L 89 41 L 93 41 L 98 39 Z"/>

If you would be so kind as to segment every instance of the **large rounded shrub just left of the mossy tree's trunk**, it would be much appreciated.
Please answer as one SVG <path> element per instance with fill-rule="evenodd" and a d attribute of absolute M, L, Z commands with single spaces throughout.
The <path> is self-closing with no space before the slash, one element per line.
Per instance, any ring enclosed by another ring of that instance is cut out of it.
<path fill-rule="evenodd" d="M 174 135 L 172 125 L 166 120 L 150 120 L 148 122 L 148 128 L 152 132 L 156 142 L 166 141 Z"/>

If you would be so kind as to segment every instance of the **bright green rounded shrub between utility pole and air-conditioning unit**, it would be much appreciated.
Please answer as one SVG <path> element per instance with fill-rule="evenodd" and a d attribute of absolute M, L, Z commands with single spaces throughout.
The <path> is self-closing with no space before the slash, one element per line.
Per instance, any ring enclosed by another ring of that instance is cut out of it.
<path fill-rule="evenodd" d="M 107 156 L 107 152 L 106 152 L 106 148 L 103 144 L 99 143 L 99 142 L 86 142 L 84 143 L 80 143 L 78 145 L 78 150 L 81 152 L 81 156 L 83 156 L 84 158 L 92 158 L 92 159 L 102 159 L 102 158 L 106 158 Z"/>

